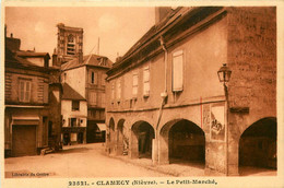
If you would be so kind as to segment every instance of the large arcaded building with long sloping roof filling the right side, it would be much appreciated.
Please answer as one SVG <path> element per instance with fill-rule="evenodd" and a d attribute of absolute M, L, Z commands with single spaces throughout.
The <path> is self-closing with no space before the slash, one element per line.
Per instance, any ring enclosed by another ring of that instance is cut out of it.
<path fill-rule="evenodd" d="M 155 13 L 155 25 L 107 72 L 107 151 L 189 162 L 206 174 L 275 168 L 275 8 Z M 232 71 L 224 85 L 223 63 Z"/>

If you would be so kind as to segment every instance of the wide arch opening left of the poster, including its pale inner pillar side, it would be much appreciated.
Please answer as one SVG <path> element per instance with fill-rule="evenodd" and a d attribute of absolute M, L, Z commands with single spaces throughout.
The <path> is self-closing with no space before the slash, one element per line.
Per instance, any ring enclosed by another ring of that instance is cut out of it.
<path fill-rule="evenodd" d="M 203 130 L 186 119 L 167 122 L 161 130 L 161 163 L 205 163 Z"/>

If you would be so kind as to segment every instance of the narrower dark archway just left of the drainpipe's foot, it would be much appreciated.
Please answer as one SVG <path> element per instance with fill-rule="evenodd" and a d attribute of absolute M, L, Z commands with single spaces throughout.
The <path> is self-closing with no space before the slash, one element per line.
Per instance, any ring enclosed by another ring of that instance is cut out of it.
<path fill-rule="evenodd" d="M 135 122 L 132 126 L 132 156 L 152 158 L 152 140 L 155 138 L 153 127 L 145 121 Z"/>

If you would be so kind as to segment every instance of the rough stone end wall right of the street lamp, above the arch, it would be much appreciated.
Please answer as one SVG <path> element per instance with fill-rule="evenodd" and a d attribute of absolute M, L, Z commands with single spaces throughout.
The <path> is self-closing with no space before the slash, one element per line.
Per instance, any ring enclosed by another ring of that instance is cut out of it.
<path fill-rule="evenodd" d="M 237 174 L 240 134 L 261 118 L 276 117 L 276 10 L 227 10 L 227 63 L 233 71 L 228 83 L 229 174 Z"/>

